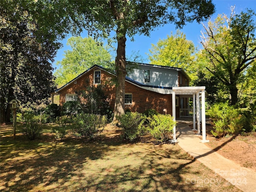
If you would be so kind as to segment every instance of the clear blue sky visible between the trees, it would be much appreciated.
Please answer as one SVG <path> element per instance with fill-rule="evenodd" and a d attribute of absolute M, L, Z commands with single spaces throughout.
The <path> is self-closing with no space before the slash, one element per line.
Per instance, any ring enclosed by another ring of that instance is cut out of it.
<path fill-rule="evenodd" d="M 230 14 L 230 7 L 235 5 L 235 12 L 240 13 L 241 11 L 246 12 L 246 8 L 251 8 L 256 11 L 256 0 L 213 0 L 215 4 L 216 12 L 212 15 L 211 20 L 214 20 L 218 14 Z M 204 22 L 206 23 L 206 22 Z M 192 40 L 194 45 L 198 48 L 200 45 L 200 31 L 203 30 L 202 24 L 198 24 L 196 22 L 188 23 L 184 26 L 180 31 L 186 34 L 186 39 Z M 151 48 L 151 44 L 156 44 L 158 40 L 167 38 L 167 35 L 170 35 L 171 32 L 173 34 L 176 33 L 176 28 L 174 24 L 167 24 L 163 27 L 156 28 L 154 31 L 150 33 L 150 37 L 147 36 L 134 36 L 134 42 L 131 42 L 129 38 L 126 41 L 126 58 L 132 57 L 134 53 L 138 53 L 142 61 L 144 63 L 149 63 L 148 56 L 146 53 L 149 53 L 149 49 Z M 83 32 L 80 36 L 83 38 L 87 37 L 87 32 Z M 67 46 L 67 40 L 71 35 L 67 36 L 64 40 L 62 40 L 63 47 L 58 50 L 58 53 L 55 58 L 55 62 L 53 67 L 56 66 L 57 61 L 61 61 L 64 58 L 64 50 L 70 50 L 70 46 Z M 115 54 L 116 52 L 113 52 Z M 115 55 L 114 55 L 115 56 Z"/>

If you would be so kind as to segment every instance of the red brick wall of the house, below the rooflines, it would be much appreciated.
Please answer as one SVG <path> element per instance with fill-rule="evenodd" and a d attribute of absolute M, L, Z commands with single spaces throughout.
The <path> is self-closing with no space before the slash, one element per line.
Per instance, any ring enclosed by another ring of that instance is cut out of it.
<path fill-rule="evenodd" d="M 94 70 L 90 70 L 83 76 L 81 76 L 77 83 L 70 84 L 60 92 L 60 105 L 62 106 L 65 102 L 66 94 L 75 94 L 76 91 L 82 90 L 85 86 L 93 84 Z M 111 78 L 108 72 L 101 70 L 101 84 L 104 85 L 104 90 L 109 98 L 110 106 L 114 109 L 115 103 L 115 92 L 116 88 L 110 83 Z M 97 86 L 97 85 L 94 85 Z M 132 112 L 143 113 L 147 109 L 155 109 L 160 114 L 164 114 L 164 108 L 167 109 L 167 114 L 172 114 L 172 95 L 171 94 L 160 94 L 145 90 L 135 86 L 129 82 L 125 82 L 125 93 L 132 94 L 132 104 L 125 105 L 126 109 Z M 176 107 L 176 117 L 179 117 L 179 107 Z"/>

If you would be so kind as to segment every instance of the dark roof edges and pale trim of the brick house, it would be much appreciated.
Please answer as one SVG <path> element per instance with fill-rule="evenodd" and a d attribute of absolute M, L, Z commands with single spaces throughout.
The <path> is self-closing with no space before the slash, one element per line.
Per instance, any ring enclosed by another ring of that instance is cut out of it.
<path fill-rule="evenodd" d="M 131 63 L 131 62 L 130 62 Z M 181 71 L 182 74 L 184 74 L 186 77 L 189 78 L 189 76 L 186 74 L 186 72 L 182 69 L 182 68 L 176 68 L 176 67 L 169 67 L 169 66 L 159 66 L 159 65 L 152 65 L 152 64 L 145 64 L 145 63 L 136 63 L 136 64 L 139 64 L 139 65 L 144 65 L 144 66 L 153 66 L 153 67 L 159 67 L 159 68 L 168 68 L 168 69 L 174 69 L 174 70 L 177 70 L 177 71 Z M 112 74 L 112 75 L 115 75 L 114 73 L 110 72 L 108 69 L 102 67 L 102 66 L 99 66 L 99 65 L 94 65 L 90 68 L 88 68 L 88 70 L 84 71 L 83 73 L 79 74 L 78 76 L 76 76 L 76 78 L 72 79 L 70 82 L 66 83 L 64 86 L 58 88 L 57 90 L 55 90 L 54 92 L 55 93 L 58 93 L 60 92 L 60 90 L 66 88 L 67 86 L 69 86 L 71 83 L 73 83 L 74 81 L 76 81 L 78 78 L 80 78 L 81 76 L 83 76 L 84 74 L 86 74 L 87 72 L 89 72 L 90 70 L 92 70 L 93 68 L 100 68 L 101 70 L 104 70 L 105 72 L 108 72 L 109 74 Z M 190 79 L 190 78 L 189 78 Z M 144 83 L 141 83 L 141 82 L 138 82 L 128 76 L 125 77 L 125 80 L 127 82 L 130 82 L 140 88 L 144 88 L 146 90 L 151 90 L 151 91 L 154 91 L 154 92 L 160 92 L 160 93 L 163 93 L 163 94 L 172 94 L 172 87 L 164 87 L 164 86 L 153 86 L 153 85 L 146 85 Z M 191 80 L 191 79 L 190 79 Z"/>

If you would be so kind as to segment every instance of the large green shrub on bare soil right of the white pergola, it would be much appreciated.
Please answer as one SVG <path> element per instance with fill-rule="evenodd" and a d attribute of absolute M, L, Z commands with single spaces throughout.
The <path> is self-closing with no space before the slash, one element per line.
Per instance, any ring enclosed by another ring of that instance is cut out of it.
<path fill-rule="evenodd" d="M 216 138 L 241 132 L 246 120 L 239 109 L 229 106 L 228 103 L 214 104 L 209 115 L 214 120 L 214 130 L 211 132 Z"/>

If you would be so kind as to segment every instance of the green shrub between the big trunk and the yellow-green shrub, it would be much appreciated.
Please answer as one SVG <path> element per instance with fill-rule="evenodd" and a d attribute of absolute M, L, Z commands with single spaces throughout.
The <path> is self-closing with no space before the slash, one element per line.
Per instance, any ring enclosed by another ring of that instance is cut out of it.
<path fill-rule="evenodd" d="M 117 120 L 120 122 L 124 137 L 130 141 L 138 138 L 145 131 L 142 124 L 146 120 L 146 116 L 138 112 L 127 112 L 118 116 Z"/>

